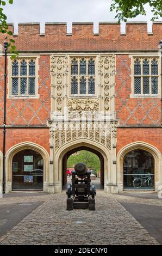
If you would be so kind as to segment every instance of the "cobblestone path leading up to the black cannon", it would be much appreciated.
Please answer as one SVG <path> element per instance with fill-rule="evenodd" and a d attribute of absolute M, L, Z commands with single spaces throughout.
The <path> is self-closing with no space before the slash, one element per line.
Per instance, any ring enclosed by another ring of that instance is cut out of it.
<path fill-rule="evenodd" d="M 65 191 L 47 197 L 1 237 L 1 245 L 158 245 L 110 194 L 97 191 L 96 211 L 66 211 Z"/>

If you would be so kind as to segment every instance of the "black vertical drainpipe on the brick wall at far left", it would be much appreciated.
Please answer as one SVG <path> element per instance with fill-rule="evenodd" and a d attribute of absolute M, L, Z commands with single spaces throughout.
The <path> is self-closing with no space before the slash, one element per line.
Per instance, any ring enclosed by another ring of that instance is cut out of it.
<path fill-rule="evenodd" d="M 4 113 L 3 113 L 3 194 L 5 193 L 5 125 L 6 125 L 6 99 L 7 99 L 7 46 L 4 42 Z"/>

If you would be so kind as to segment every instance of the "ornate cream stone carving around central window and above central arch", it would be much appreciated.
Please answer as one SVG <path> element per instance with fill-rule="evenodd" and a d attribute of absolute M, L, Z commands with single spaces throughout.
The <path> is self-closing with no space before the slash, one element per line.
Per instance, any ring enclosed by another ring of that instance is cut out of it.
<path fill-rule="evenodd" d="M 95 115 L 99 111 L 104 111 L 105 115 L 115 112 L 115 56 L 96 56 L 96 64 L 98 63 L 98 72 L 95 72 L 96 97 L 83 98 L 76 97 L 68 99 L 70 93 L 70 72 L 68 67 L 70 56 L 51 56 L 51 100 L 52 111 L 59 111 L 64 114 L 64 106 L 68 107 L 68 114 L 72 119 L 79 117 L 83 113 L 85 117 L 92 118 L 92 122 L 84 123 L 76 121 L 76 123 L 54 123 L 50 126 L 50 137 L 53 139 L 54 150 L 57 151 L 67 142 L 74 141 L 79 138 L 87 138 L 96 141 L 98 144 L 104 145 L 105 148 L 111 149 L 111 144 L 116 139 L 117 122 L 111 121 L 108 125 L 111 127 L 104 132 L 102 127 L 94 120 Z M 98 77 L 97 77 L 98 76 Z M 114 104 L 114 105 L 113 105 Z M 103 126 L 105 123 L 103 123 Z M 106 124 L 107 125 L 107 124 Z M 111 130 L 111 131 L 110 131 Z"/>

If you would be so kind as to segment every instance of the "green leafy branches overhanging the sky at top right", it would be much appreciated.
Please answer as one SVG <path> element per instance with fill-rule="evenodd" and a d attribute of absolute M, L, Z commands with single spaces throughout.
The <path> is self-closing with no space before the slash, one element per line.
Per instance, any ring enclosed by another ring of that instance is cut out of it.
<path fill-rule="evenodd" d="M 110 11 L 116 11 L 120 21 L 127 21 L 128 18 L 135 18 L 138 15 L 146 15 L 145 4 L 149 4 L 153 13 L 152 21 L 162 17 L 162 0 L 113 0 Z"/>

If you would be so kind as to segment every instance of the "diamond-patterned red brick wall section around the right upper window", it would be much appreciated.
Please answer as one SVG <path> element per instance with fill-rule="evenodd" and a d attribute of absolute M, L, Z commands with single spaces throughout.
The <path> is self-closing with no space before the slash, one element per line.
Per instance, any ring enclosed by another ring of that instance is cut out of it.
<path fill-rule="evenodd" d="M 161 99 L 133 99 L 131 93 L 131 70 L 128 55 L 116 57 L 116 118 L 120 124 L 161 124 Z"/>

